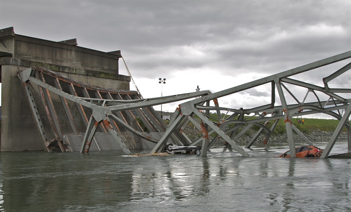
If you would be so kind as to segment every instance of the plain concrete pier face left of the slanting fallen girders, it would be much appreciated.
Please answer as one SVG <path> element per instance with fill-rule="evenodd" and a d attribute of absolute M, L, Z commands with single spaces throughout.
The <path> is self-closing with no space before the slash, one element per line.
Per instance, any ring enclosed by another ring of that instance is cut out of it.
<path fill-rule="evenodd" d="M 24 67 L 19 67 L 24 70 Z M 17 66 L 1 64 L 1 151 L 41 150 L 41 144 Z M 44 121 L 44 120 L 43 120 Z M 44 121 L 44 123 L 47 123 Z M 46 125 L 44 125 L 46 126 Z M 50 125 L 48 125 L 50 126 Z M 47 129 L 46 132 L 50 132 Z M 49 134 L 52 136 L 52 134 Z"/>

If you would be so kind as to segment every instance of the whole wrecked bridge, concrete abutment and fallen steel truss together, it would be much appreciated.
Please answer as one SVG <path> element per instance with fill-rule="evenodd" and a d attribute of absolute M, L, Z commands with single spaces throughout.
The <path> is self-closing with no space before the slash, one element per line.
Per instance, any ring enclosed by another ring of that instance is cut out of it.
<path fill-rule="evenodd" d="M 11 39 L 15 37 L 20 45 L 15 45 L 13 48 L 21 50 L 23 49 L 23 43 L 26 43 L 28 38 L 14 35 L 13 32 L 9 34 L 3 36 L 6 38 L 3 42 L 5 47 L 0 47 L 2 55 L 1 77 L 2 79 L 4 77 L 10 79 L 11 83 L 5 83 L 5 85 L 14 88 L 21 101 L 20 107 L 14 107 L 13 109 L 11 109 L 13 101 L 7 105 L 5 103 L 4 112 L 7 114 L 2 113 L 2 120 L 5 117 L 6 122 L 4 126 L 1 125 L 1 131 L 3 132 L 3 129 L 16 130 L 11 123 L 11 117 L 8 117 L 8 115 L 14 115 L 14 113 L 11 114 L 11 110 L 20 113 L 25 108 L 29 108 L 33 116 L 22 115 L 21 118 L 29 123 L 29 118 L 33 120 L 34 117 L 34 124 L 18 127 L 23 127 L 23 130 L 28 131 L 35 126 L 39 134 L 34 132 L 28 132 L 28 134 L 39 136 L 32 140 L 31 136 L 22 136 L 22 140 L 18 141 L 18 139 L 12 138 L 16 134 L 11 135 L 10 132 L 5 134 L 7 137 L 3 141 L 4 136 L 1 134 L 1 151 L 20 149 L 18 145 L 16 148 L 11 148 L 11 145 L 13 145 L 11 142 L 18 142 L 30 150 L 32 144 L 38 144 L 38 140 L 40 148 L 48 152 L 79 151 L 80 153 L 89 153 L 91 150 L 114 149 L 121 149 L 126 154 L 131 154 L 134 149 L 152 149 L 151 153 L 156 153 L 162 152 L 166 144 L 173 143 L 189 146 L 201 145 L 201 155 L 206 156 L 207 150 L 212 148 L 215 142 L 221 138 L 242 156 L 250 157 L 244 147 L 237 144 L 238 138 L 256 126 L 259 130 L 256 131 L 245 148 L 250 148 L 255 141 L 258 141 L 260 135 L 264 135 L 264 143 L 268 146 L 277 123 L 284 121 L 288 137 L 287 142 L 291 155 L 294 157 L 296 155 L 294 132 L 307 144 L 313 145 L 313 143 L 293 125 L 292 117 L 320 113 L 339 120 L 339 124 L 321 157 L 328 157 L 344 127 L 348 131 L 348 147 L 351 149 L 349 122 L 351 89 L 350 87 L 342 87 L 342 84 L 332 83 L 334 81 L 338 82 L 338 79 L 345 75 L 350 76 L 351 51 L 216 93 L 201 91 L 145 99 L 138 91 L 130 91 L 129 86 L 126 86 L 125 89 L 106 88 L 106 86 L 92 85 L 98 83 L 89 82 L 91 77 L 98 77 L 97 73 L 100 72 L 107 72 L 110 78 L 111 76 L 115 78 L 112 80 L 105 79 L 108 80 L 109 83 L 106 84 L 109 85 L 113 84 L 111 82 L 114 82 L 114 80 L 130 81 L 127 76 L 116 75 L 117 71 L 111 73 L 106 68 L 101 70 L 101 67 L 106 66 L 106 62 L 111 63 L 111 61 L 121 58 L 120 52 L 107 54 L 89 52 L 89 54 L 98 54 L 101 58 L 112 59 L 105 60 L 103 64 L 96 64 L 93 67 L 94 71 L 91 70 L 91 65 L 84 65 L 84 63 L 78 64 L 79 67 L 67 66 L 67 61 L 65 62 L 66 66 L 45 63 L 42 58 L 50 57 L 50 55 L 45 55 L 42 52 L 38 52 L 38 55 L 41 54 L 42 56 L 36 58 L 36 61 L 33 62 L 33 58 L 29 60 L 27 57 L 19 55 L 19 51 L 7 47 L 11 45 Z M 77 57 L 78 54 L 82 54 L 78 57 L 82 58 L 88 54 L 75 46 L 75 42 L 73 42 L 74 47 L 72 47 L 72 44 L 67 44 L 71 42 L 65 41 L 59 44 L 50 42 L 45 44 L 45 48 L 51 46 L 55 51 L 58 51 L 56 48 L 59 45 L 60 48 L 66 48 L 66 51 L 74 52 L 74 54 L 67 54 L 67 60 L 72 55 Z M 27 43 L 33 43 L 33 40 Z M 14 52 L 17 52 L 17 55 Z M 52 56 L 52 60 L 57 55 Z M 71 61 L 72 66 L 77 66 L 78 58 Z M 56 61 L 56 63 L 60 62 Z M 299 75 L 303 73 L 312 74 L 313 71 L 321 69 L 326 74 L 325 77 L 320 79 L 323 86 L 299 80 Z M 5 71 L 11 74 L 8 75 Z M 81 73 L 87 76 L 86 82 L 75 80 L 75 78 L 81 78 L 79 77 Z M 106 74 L 101 74 L 101 76 L 106 77 Z M 18 78 L 20 78 L 20 81 Z M 21 85 L 22 91 L 18 86 L 15 86 L 16 83 Z M 125 85 L 124 82 L 117 83 Z M 2 86 L 4 87 L 4 80 L 2 80 Z M 250 91 L 250 89 L 261 89 L 261 86 L 270 88 L 267 91 L 270 94 L 267 100 L 268 104 L 262 105 L 258 102 L 257 106 L 253 108 L 241 108 L 240 105 L 237 105 L 236 109 L 219 105 L 222 97 Z M 2 89 L 2 92 L 4 90 Z M 301 93 L 305 95 L 303 96 Z M 178 101 L 183 103 L 180 103 L 176 108 L 167 126 L 152 107 Z M 2 99 L 3 105 L 4 102 L 6 102 L 6 99 L 5 101 Z M 217 118 L 210 116 L 211 112 L 214 112 Z M 222 116 L 223 113 L 225 113 L 224 116 Z M 141 126 L 141 123 L 143 126 Z M 190 123 L 202 134 L 201 136 L 194 139 L 184 133 L 184 129 Z M 271 127 L 268 127 L 269 123 L 273 123 Z M 210 135 L 215 135 L 212 140 L 209 139 Z M 36 148 L 38 149 L 38 147 Z"/>

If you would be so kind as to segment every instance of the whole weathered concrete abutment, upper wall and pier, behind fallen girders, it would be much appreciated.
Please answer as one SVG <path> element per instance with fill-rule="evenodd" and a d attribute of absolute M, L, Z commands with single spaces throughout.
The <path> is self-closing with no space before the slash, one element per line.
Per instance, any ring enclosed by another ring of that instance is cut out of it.
<path fill-rule="evenodd" d="M 44 67 L 86 84 L 129 90 L 130 77 L 118 74 L 119 51 L 105 53 L 76 46 L 72 40 L 55 42 L 16 35 L 12 27 L 0 30 L 0 41 L 1 151 L 43 150 L 27 98 L 16 76 L 19 70 Z M 38 110 L 45 114 L 40 105 Z M 42 122 L 50 127 L 44 116 Z M 53 137 L 51 128 L 45 131 L 48 137 Z"/>

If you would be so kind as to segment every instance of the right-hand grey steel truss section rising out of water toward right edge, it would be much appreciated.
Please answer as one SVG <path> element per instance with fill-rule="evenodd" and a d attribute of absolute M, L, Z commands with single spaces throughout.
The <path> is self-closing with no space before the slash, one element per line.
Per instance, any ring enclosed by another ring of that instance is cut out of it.
<path fill-rule="evenodd" d="M 196 98 L 194 100 L 182 103 L 179 105 L 179 108 L 177 109 L 179 113 L 177 114 L 176 121 L 177 123 L 173 123 L 170 130 L 166 131 L 166 134 L 162 137 L 162 139 L 159 141 L 159 143 L 156 145 L 156 147 L 152 150 L 151 153 L 155 152 L 160 152 L 163 150 L 164 146 L 166 145 L 166 139 L 168 136 L 167 134 L 172 134 L 174 132 L 174 129 L 176 129 L 176 125 L 178 124 L 181 126 L 189 122 L 193 122 L 196 128 L 199 129 L 199 131 L 202 134 L 202 137 L 199 137 L 198 139 L 195 139 L 194 142 L 191 143 L 191 145 L 195 145 L 196 143 L 203 142 L 202 143 L 202 152 L 205 150 L 208 150 L 214 145 L 214 142 L 208 143 L 208 135 L 212 133 L 216 133 L 216 137 L 214 139 L 217 139 L 218 136 L 222 137 L 225 141 L 227 141 L 229 144 L 231 144 L 240 154 L 242 154 L 245 157 L 249 157 L 250 155 L 247 154 L 237 143 L 235 142 L 235 139 L 240 137 L 243 132 L 248 130 L 251 126 L 257 125 L 260 126 L 260 130 L 254 135 L 250 143 L 247 145 L 247 148 L 249 148 L 252 143 L 257 139 L 258 135 L 261 134 L 261 132 L 266 131 L 266 136 L 264 143 L 267 144 L 267 141 L 269 140 L 274 127 L 277 123 L 278 119 L 283 119 L 285 121 L 285 127 L 288 135 L 288 143 L 289 143 L 289 149 L 291 151 L 292 157 L 296 156 L 295 153 L 295 143 L 293 139 L 293 131 L 295 131 L 298 135 L 300 135 L 305 142 L 308 144 L 312 144 L 308 138 L 303 135 L 293 124 L 292 124 L 292 117 L 296 116 L 306 116 L 306 115 L 312 115 L 312 114 L 317 114 L 317 113 L 325 113 L 330 116 L 333 116 L 334 118 L 340 120 L 340 123 L 338 127 L 335 129 L 335 132 L 333 136 L 331 137 L 331 140 L 328 143 L 327 149 L 322 155 L 322 157 L 327 157 L 328 154 L 330 153 L 330 150 L 335 143 L 335 140 L 337 139 L 338 135 L 340 135 L 341 130 L 344 126 L 347 127 L 348 129 L 348 141 L 349 141 L 349 149 L 351 149 L 351 129 L 350 129 L 350 122 L 349 122 L 349 116 L 350 116 L 350 94 L 351 94 L 351 89 L 350 88 L 331 88 L 330 85 L 328 85 L 328 82 L 331 81 L 332 79 L 335 79 L 336 77 L 339 77 L 341 74 L 350 71 L 351 68 L 351 63 L 348 63 L 347 65 L 343 66 L 339 70 L 332 72 L 331 75 L 322 78 L 321 80 L 324 83 L 324 87 L 320 87 L 317 85 L 313 85 L 310 83 L 306 83 L 303 81 L 299 81 L 296 79 L 292 79 L 290 77 L 293 77 L 295 75 L 312 71 L 314 69 L 327 66 L 333 63 L 337 63 L 340 61 L 345 61 L 346 59 L 351 58 L 351 51 L 345 52 L 343 54 L 339 54 L 330 58 L 325 58 L 316 62 L 309 63 L 307 65 L 303 65 L 297 68 L 293 68 L 269 77 L 264 77 L 261 79 L 254 80 L 249 83 L 245 83 L 239 86 L 235 86 L 233 88 L 229 88 L 220 92 L 216 92 L 213 94 L 209 94 L 206 96 L 202 96 L 199 98 Z M 268 105 L 262 105 L 262 106 L 257 106 L 255 108 L 249 108 L 249 109 L 234 109 L 234 108 L 224 108 L 224 107 L 219 107 L 218 105 L 218 98 L 224 97 L 224 96 L 229 96 L 235 93 L 239 93 L 242 91 L 246 91 L 248 89 L 256 88 L 260 85 L 264 84 L 269 84 L 271 83 L 271 104 Z M 287 85 L 290 86 L 295 86 L 295 87 L 300 87 L 300 88 L 305 88 L 307 89 L 306 96 L 304 96 L 303 100 L 299 100 L 300 96 L 296 96 L 293 93 L 293 89 L 288 89 Z M 275 89 L 278 91 L 277 95 L 280 99 L 281 105 L 276 105 L 275 101 Z M 312 93 L 313 96 L 317 99 L 317 101 L 312 102 L 308 101 L 307 96 Z M 346 94 L 347 97 L 341 96 L 342 94 Z M 292 98 L 295 102 L 287 102 L 286 98 L 290 97 Z M 324 98 L 327 98 L 326 100 L 322 100 Z M 204 103 L 213 101 L 215 106 L 209 106 L 206 105 L 204 106 Z M 343 114 L 342 111 L 344 110 L 345 113 Z M 206 111 L 207 113 L 209 111 L 215 111 L 217 115 L 219 114 L 219 111 L 224 111 L 224 112 L 230 112 L 232 115 L 227 116 L 226 118 L 221 118 L 218 116 L 218 119 L 215 120 L 214 117 L 209 117 L 204 115 L 203 113 L 200 113 L 199 111 Z M 249 116 L 251 114 L 254 114 L 253 116 Z M 249 116 L 249 117 L 244 117 L 244 115 Z M 194 116 L 197 116 L 198 118 L 195 119 Z M 235 118 L 235 119 L 234 119 Z M 184 119 L 186 121 L 181 122 L 181 120 Z M 272 125 L 271 129 L 267 129 L 265 127 L 265 123 L 269 120 L 274 120 L 274 124 Z M 230 126 L 230 124 L 234 124 L 234 126 Z M 206 128 L 205 128 L 206 126 Z M 243 130 L 239 132 L 238 134 L 235 135 L 235 132 L 238 131 L 240 127 L 243 127 Z M 209 129 L 207 128 L 209 127 Z M 227 130 L 223 130 L 224 127 L 229 127 Z M 227 134 L 232 134 L 228 136 Z M 206 154 L 201 154 L 201 155 L 206 155 Z"/>

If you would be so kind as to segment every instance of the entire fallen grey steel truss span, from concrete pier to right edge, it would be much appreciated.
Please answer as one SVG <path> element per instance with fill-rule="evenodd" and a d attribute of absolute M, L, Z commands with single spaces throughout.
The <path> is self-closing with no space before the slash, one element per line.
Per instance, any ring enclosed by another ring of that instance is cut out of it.
<path fill-rule="evenodd" d="M 201 91 L 147 99 L 142 99 L 136 91 L 93 87 L 43 68 L 29 68 L 20 71 L 18 76 L 28 98 L 43 146 L 48 152 L 54 148 L 59 148 L 62 152 L 71 151 L 67 141 L 64 140 L 65 134 L 60 129 L 60 119 L 51 97 L 54 95 L 59 96 L 67 123 L 73 133 L 79 133 L 77 127 L 79 122 L 84 123 L 85 134 L 80 148 L 82 154 L 89 153 L 97 131 L 110 133 L 119 147 L 126 154 L 131 154 L 131 149 L 135 146 L 126 143 L 125 139 L 121 139 L 118 134 L 118 132 L 128 131 L 154 143 L 150 154 L 164 151 L 166 145 L 171 142 L 185 146 L 199 144 L 202 149 L 201 155 L 206 156 L 215 141 L 222 138 L 242 156 L 250 157 L 250 154 L 236 143 L 238 138 L 256 126 L 255 129 L 258 127 L 258 130 L 245 148 L 250 148 L 255 141 L 258 141 L 259 135 L 264 135 L 263 142 L 268 147 L 269 139 L 278 121 L 284 121 L 291 157 L 296 157 L 294 132 L 307 144 L 313 145 L 313 143 L 292 124 L 292 117 L 323 113 L 339 120 L 321 156 L 321 158 L 327 158 L 344 127 L 348 131 L 348 147 L 351 149 L 350 83 L 338 83 L 345 81 L 342 80 L 343 76 L 350 76 L 350 58 L 351 51 L 216 93 Z M 325 74 L 325 77 L 319 79 L 320 83 L 311 84 L 307 82 L 310 80 L 301 77 L 303 75 L 312 78 L 315 71 Z M 38 86 L 38 89 L 33 89 L 34 86 Z M 252 108 L 242 108 L 240 105 L 237 105 L 237 108 L 228 108 L 219 105 L 223 97 L 240 95 L 252 90 L 260 91 L 263 87 L 269 96 L 265 104 L 257 102 L 257 105 Z M 46 137 L 37 111 L 38 102 L 33 98 L 32 92 L 40 94 L 40 104 L 45 107 L 54 138 Z M 155 105 L 181 100 L 183 103 L 176 108 L 168 126 L 152 108 Z M 78 111 L 79 116 L 73 117 L 72 104 L 75 105 L 75 111 Z M 210 113 L 216 114 L 217 118 L 210 116 Z M 137 118 L 145 125 L 148 133 L 136 121 Z M 190 123 L 202 134 L 200 137 L 194 139 L 184 134 L 183 130 Z M 268 127 L 269 123 L 271 127 Z M 161 138 L 156 139 L 151 135 L 152 133 L 160 133 Z M 209 139 L 211 134 L 215 134 L 212 140 Z"/>

